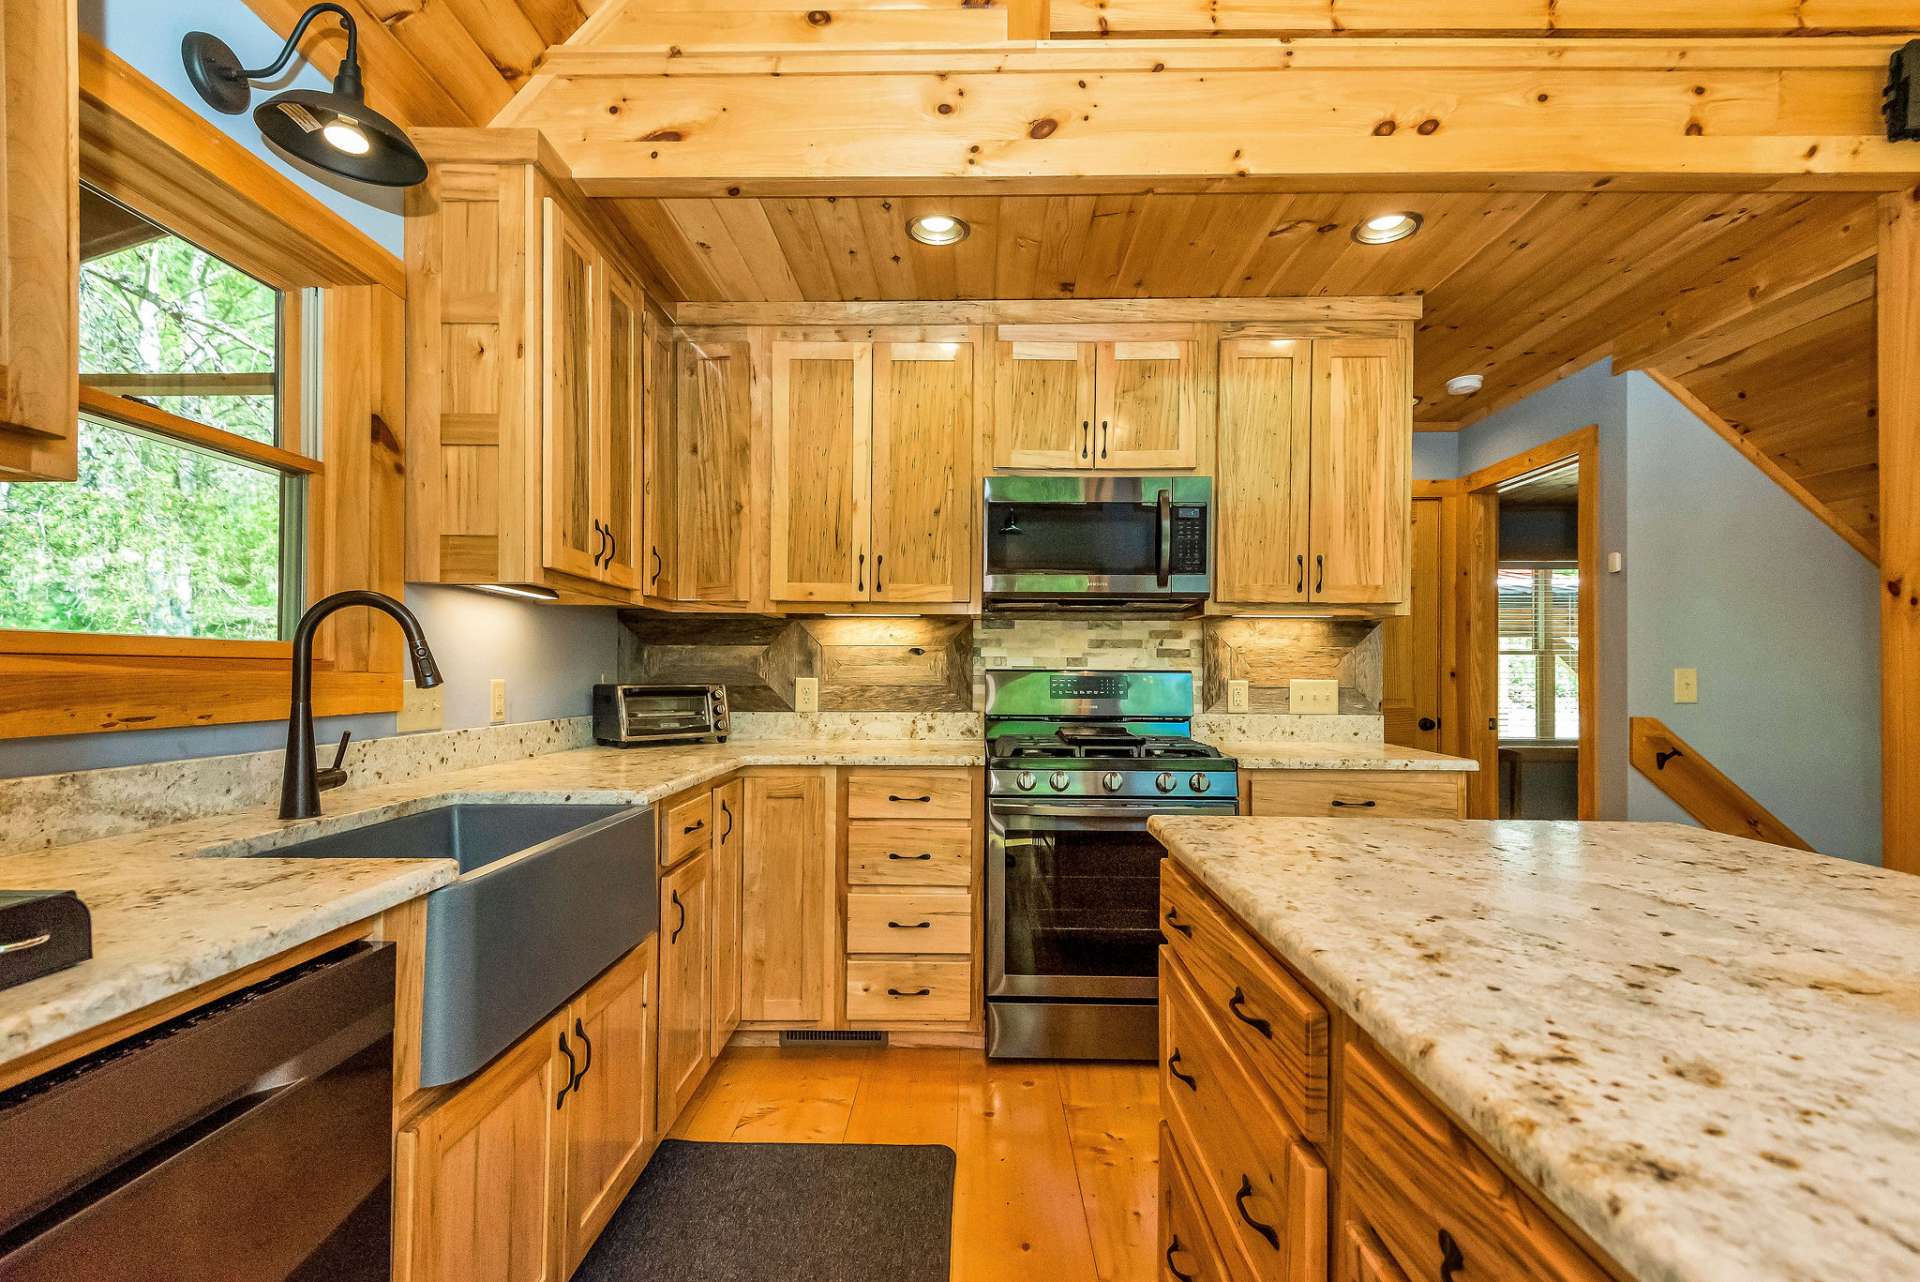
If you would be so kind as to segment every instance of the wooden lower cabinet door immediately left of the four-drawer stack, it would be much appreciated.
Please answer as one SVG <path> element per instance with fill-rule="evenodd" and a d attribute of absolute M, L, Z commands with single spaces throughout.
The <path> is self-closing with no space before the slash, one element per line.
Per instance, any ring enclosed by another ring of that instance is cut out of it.
<path fill-rule="evenodd" d="M 741 1019 L 793 1025 L 828 1017 L 828 956 L 835 946 L 835 852 L 828 787 L 818 772 L 747 777 L 741 846 Z"/>

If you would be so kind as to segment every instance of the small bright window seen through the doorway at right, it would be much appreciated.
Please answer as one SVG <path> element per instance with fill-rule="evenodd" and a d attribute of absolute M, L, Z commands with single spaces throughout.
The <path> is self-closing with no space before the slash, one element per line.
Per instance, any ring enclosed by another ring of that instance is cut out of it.
<path fill-rule="evenodd" d="M 1498 572 L 1500 737 L 1580 737 L 1580 570 L 1507 562 Z"/>

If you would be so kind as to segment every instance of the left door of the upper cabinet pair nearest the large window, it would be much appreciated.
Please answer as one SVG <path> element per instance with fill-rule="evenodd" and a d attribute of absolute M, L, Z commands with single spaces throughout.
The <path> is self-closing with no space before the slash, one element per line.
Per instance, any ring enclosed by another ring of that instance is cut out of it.
<path fill-rule="evenodd" d="M 543 246 L 541 555 L 549 570 L 597 578 L 603 526 L 593 510 L 593 347 L 603 265 L 593 242 L 551 196 Z"/>

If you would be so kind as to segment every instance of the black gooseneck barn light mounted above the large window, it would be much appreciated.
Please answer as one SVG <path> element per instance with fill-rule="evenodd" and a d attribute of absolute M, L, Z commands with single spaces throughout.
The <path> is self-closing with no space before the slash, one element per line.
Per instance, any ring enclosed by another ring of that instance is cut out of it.
<path fill-rule="evenodd" d="M 340 59 L 332 92 L 290 88 L 259 104 L 253 123 L 259 132 L 290 155 L 328 173 L 380 186 L 413 186 L 426 180 L 426 161 L 394 121 L 367 106 L 359 77 L 359 33 L 353 15 L 338 4 L 315 4 L 300 15 L 286 48 L 265 67 L 242 67 L 234 52 L 219 36 L 190 31 L 180 40 L 180 59 L 186 79 L 194 83 L 207 106 L 227 115 L 246 111 L 253 96 L 250 81 L 267 81 L 286 69 L 300 36 L 321 13 L 334 13 L 348 29 L 348 52 Z"/>

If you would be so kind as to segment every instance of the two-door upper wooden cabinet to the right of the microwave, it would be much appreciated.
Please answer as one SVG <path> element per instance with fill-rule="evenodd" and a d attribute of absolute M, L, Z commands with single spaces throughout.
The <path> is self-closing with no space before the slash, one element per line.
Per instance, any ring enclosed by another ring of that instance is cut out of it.
<path fill-rule="evenodd" d="M 1215 601 L 1407 601 L 1411 374 L 1407 334 L 1221 342 Z"/>

